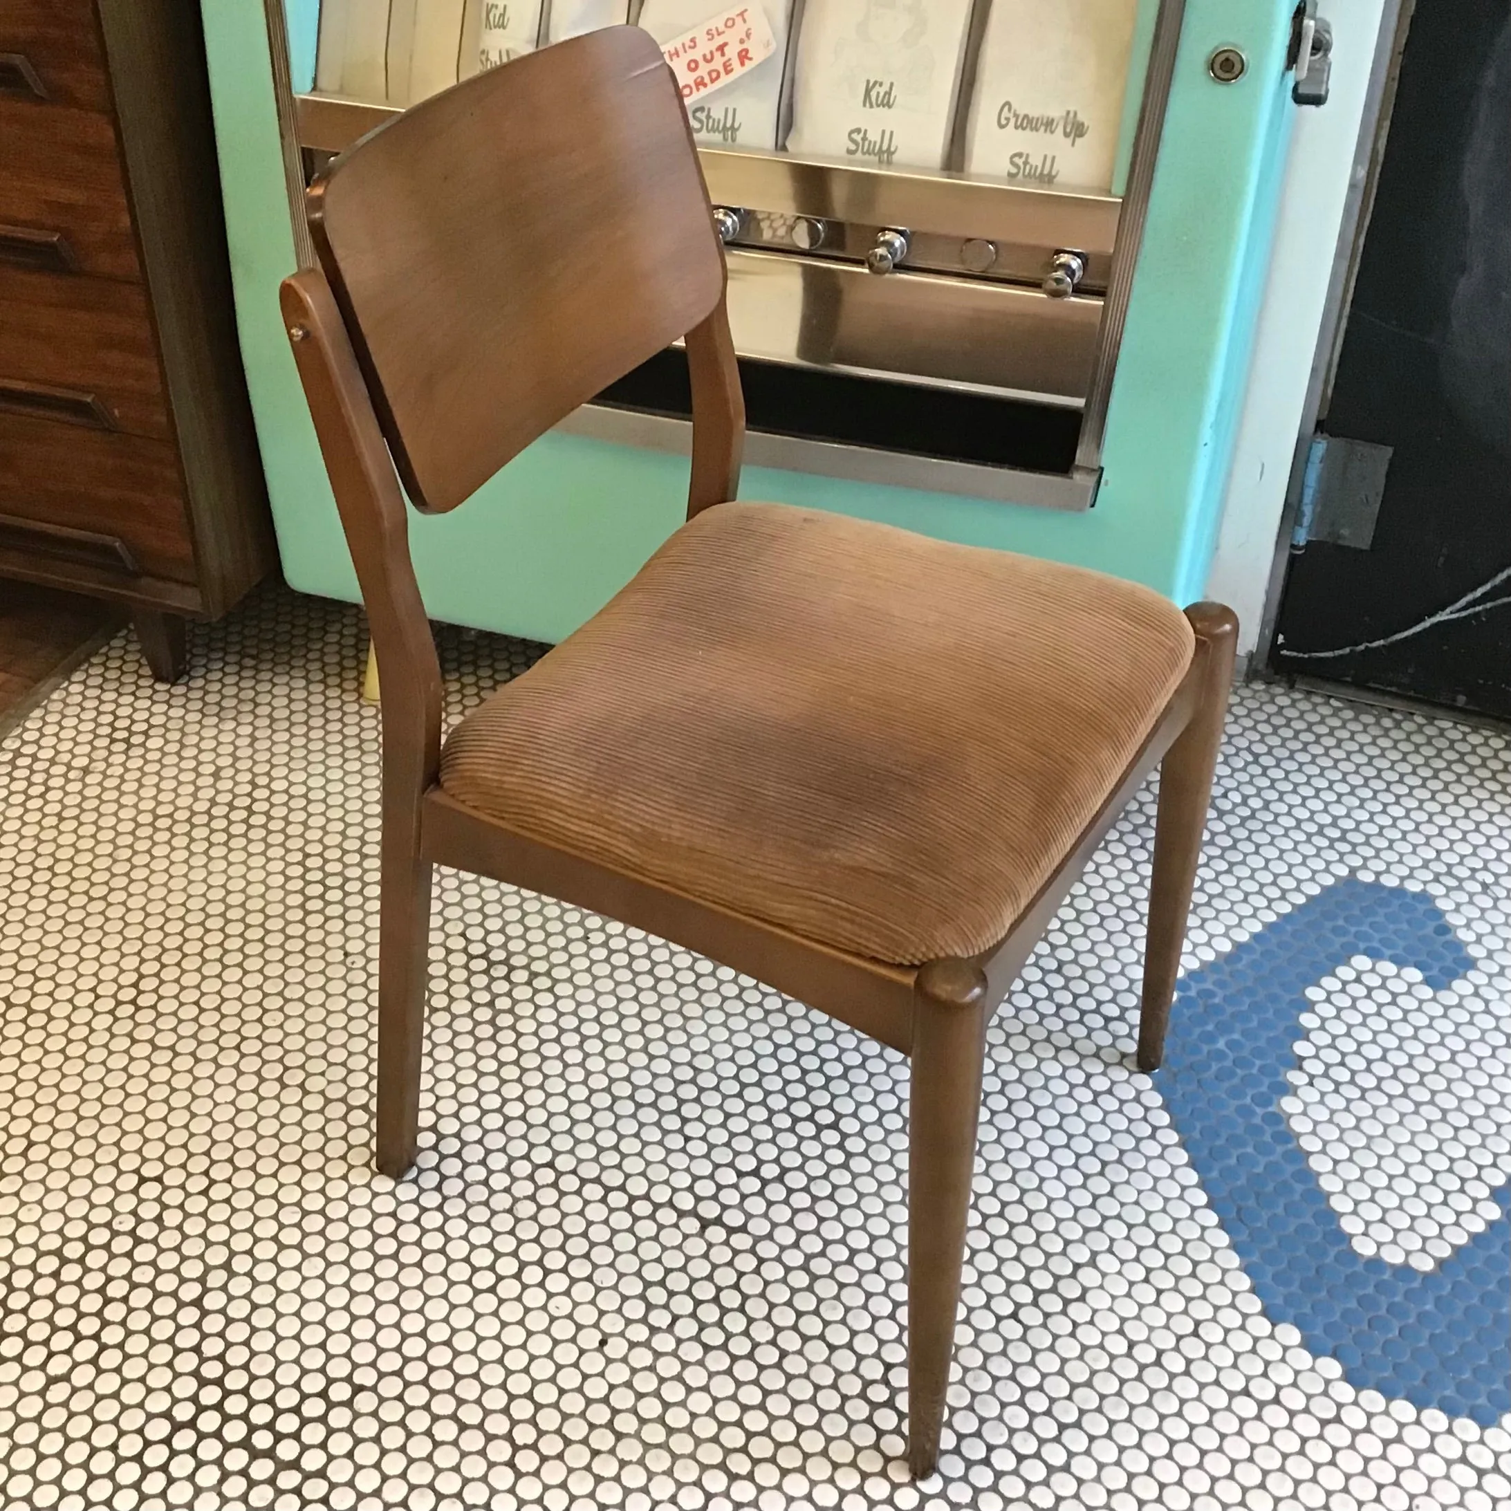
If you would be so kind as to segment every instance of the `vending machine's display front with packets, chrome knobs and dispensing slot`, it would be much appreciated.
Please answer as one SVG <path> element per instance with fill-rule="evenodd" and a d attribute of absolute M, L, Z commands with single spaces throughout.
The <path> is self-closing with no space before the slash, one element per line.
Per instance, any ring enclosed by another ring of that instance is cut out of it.
<path fill-rule="evenodd" d="M 283 0 L 270 0 L 281 5 Z M 1183 0 L 322 0 L 305 168 L 394 110 L 600 26 L 681 83 L 752 428 L 1088 508 Z M 301 85 L 308 83 L 308 88 Z M 568 425 L 656 444 L 672 351 Z M 804 453 L 817 456 L 817 452 Z M 1027 482 L 1024 482 L 1027 479 Z"/>

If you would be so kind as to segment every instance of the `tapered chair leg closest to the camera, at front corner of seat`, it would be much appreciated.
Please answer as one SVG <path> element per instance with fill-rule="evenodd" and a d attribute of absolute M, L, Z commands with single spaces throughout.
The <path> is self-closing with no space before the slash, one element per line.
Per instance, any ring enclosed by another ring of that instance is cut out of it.
<path fill-rule="evenodd" d="M 963 959 L 919 972 L 908 1130 L 908 1466 L 934 1473 L 955 1343 L 981 1118 L 987 978 Z"/>

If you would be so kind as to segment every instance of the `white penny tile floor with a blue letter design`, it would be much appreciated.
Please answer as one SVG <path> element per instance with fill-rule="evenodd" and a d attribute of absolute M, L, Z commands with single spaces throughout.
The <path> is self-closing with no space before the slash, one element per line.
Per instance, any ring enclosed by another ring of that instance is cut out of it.
<path fill-rule="evenodd" d="M 443 873 L 372 1173 L 363 644 L 267 594 L 0 742 L 0 1505 L 1511 1505 L 1505 734 L 1241 691 L 1154 1077 L 1133 805 L 991 1029 L 911 1484 L 901 1056 Z"/>

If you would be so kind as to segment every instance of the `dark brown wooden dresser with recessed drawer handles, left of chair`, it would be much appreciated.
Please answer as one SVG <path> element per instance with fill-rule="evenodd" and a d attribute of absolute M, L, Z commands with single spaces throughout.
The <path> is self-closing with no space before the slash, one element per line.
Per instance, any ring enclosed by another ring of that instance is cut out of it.
<path fill-rule="evenodd" d="M 0 0 L 0 592 L 118 600 L 175 680 L 275 559 L 198 0 Z"/>

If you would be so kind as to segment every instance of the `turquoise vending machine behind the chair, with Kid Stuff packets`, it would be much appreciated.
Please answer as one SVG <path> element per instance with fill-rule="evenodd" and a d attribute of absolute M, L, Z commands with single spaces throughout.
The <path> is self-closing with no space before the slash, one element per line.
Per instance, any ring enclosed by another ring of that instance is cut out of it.
<path fill-rule="evenodd" d="M 728 254 L 742 497 L 1200 597 L 1295 101 L 1325 77 L 1313 6 L 202 0 L 289 582 L 358 595 L 278 319 L 307 177 L 479 68 L 629 23 L 681 82 Z M 672 349 L 473 508 L 414 517 L 432 618 L 570 633 L 680 523 L 688 413 Z"/>

